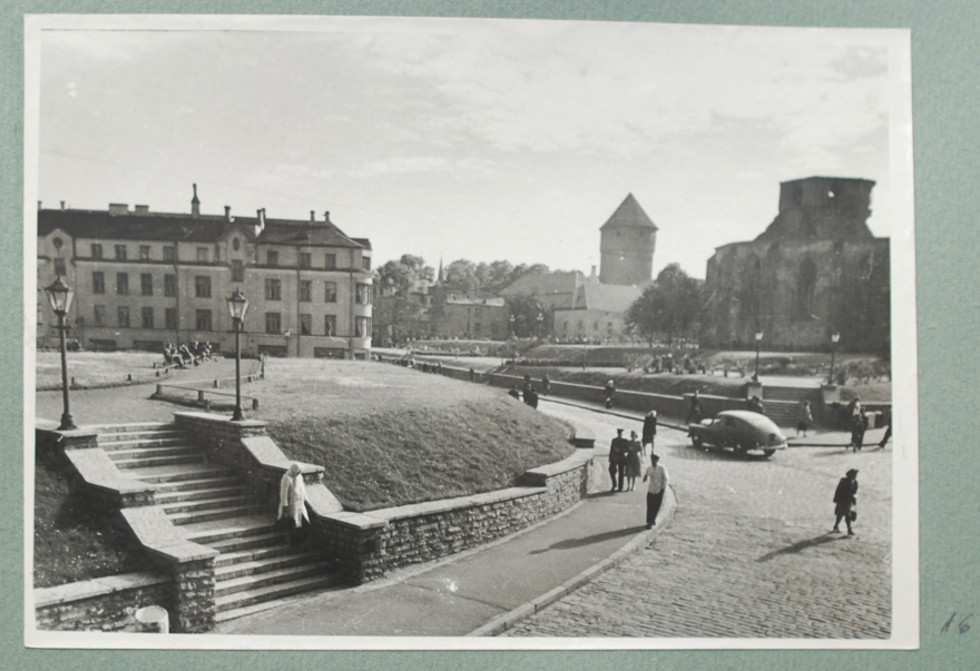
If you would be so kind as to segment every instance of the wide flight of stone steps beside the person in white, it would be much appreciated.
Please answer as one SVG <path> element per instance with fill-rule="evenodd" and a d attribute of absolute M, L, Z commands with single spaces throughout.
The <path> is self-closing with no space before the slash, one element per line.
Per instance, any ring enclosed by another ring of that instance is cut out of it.
<path fill-rule="evenodd" d="M 209 464 L 175 424 L 95 428 L 99 447 L 124 473 L 154 486 L 156 504 L 188 541 L 220 553 L 215 557 L 216 621 L 340 582 L 314 553 L 287 544 L 264 493 L 249 495 L 233 468 Z"/>

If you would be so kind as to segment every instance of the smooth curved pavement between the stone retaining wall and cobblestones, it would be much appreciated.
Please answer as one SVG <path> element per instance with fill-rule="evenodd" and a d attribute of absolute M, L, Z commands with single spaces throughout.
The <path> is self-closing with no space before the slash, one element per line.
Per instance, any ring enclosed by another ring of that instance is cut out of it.
<path fill-rule="evenodd" d="M 668 490 L 646 529 L 646 485 L 610 492 L 608 444 L 596 436 L 588 496 L 555 517 L 439 562 L 357 588 L 302 595 L 219 624 L 217 634 L 496 635 L 641 550 L 670 523 Z"/>

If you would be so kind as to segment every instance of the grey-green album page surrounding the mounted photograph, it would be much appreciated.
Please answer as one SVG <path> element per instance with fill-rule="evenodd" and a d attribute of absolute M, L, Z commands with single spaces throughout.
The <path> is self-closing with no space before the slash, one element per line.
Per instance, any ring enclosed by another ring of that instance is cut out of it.
<path fill-rule="evenodd" d="M 976 254 L 980 231 L 977 111 L 980 109 L 980 4 L 914 0 L 738 3 L 641 1 L 564 2 L 18 2 L 2 9 L 3 151 L 0 181 L 6 288 L 0 324 L 4 342 L 22 343 L 22 160 L 24 13 L 281 13 L 447 16 L 521 19 L 728 23 L 827 28 L 908 28 L 912 31 L 915 152 L 917 288 L 919 296 L 921 650 L 902 651 L 99 651 L 28 650 L 23 641 L 22 358 L 2 361 L 2 416 L 7 460 L 0 497 L 3 516 L 0 594 L 3 665 L 30 669 L 972 669 L 980 660 L 980 626 L 960 626 L 980 610 L 976 579 L 974 512 L 980 492 L 971 468 L 977 422 L 973 385 L 980 356 L 970 343 L 978 326 Z M 8 352 L 17 347 L 8 347 Z M 964 467 L 967 466 L 967 467 Z M 894 495 L 901 496 L 901 492 Z M 842 585 L 842 589 L 846 589 Z"/>

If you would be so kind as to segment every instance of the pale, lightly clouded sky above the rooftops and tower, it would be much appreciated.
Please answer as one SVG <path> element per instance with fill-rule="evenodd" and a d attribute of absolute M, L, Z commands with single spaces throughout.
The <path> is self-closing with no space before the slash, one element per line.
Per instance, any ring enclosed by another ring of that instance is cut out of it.
<path fill-rule="evenodd" d="M 197 182 L 206 214 L 330 210 L 375 265 L 588 273 L 633 193 L 660 229 L 655 275 L 704 277 L 715 247 L 772 221 L 780 181 L 821 175 L 875 180 L 870 225 L 889 234 L 873 31 L 292 21 L 45 31 L 38 197 L 189 211 Z"/>

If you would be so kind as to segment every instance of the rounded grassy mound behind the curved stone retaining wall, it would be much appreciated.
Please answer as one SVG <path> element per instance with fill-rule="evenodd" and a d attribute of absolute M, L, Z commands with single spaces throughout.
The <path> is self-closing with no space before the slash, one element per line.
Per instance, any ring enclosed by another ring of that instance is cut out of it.
<path fill-rule="evenodd" d="M 503 391 L 385 364 L 270 362 L 249 385 L 291 458 L 322 464 L 351 510 L 513 486 L 568 456 L 569 430 Z"/>

